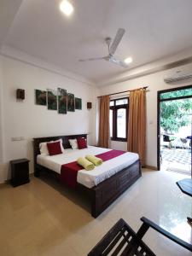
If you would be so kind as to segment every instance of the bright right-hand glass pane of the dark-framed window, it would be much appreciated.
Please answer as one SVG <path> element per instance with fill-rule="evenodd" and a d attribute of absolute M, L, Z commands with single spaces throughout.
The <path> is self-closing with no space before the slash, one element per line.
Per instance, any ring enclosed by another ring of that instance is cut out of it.
<path fill-rule="evenodd" d="M 126 109 L 119 108 L 117 111 L 117 137 L 126 137 Z"/>

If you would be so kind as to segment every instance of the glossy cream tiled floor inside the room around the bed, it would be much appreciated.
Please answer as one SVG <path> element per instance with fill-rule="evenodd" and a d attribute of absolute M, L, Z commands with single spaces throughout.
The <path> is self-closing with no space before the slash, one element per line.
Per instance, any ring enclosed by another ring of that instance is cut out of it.
<path fill-rule="evenodd" d="M 143 172 L 98 218 L 88 212 L 82 195 L 64 189 L 44 177 L 12 188 L 0 187 L 0 255 L 86 255 L 102 236 L 124 218 L 134 230 L 145 216 L 166 230 L 192 241 L 186 216 L 192 215 L 192 198 L 184 195 L 176 181 L 185 176 L 172 172 Z M 144 241 L 160 256 L 189 256 L 187 250 L 149 230 Z"/>

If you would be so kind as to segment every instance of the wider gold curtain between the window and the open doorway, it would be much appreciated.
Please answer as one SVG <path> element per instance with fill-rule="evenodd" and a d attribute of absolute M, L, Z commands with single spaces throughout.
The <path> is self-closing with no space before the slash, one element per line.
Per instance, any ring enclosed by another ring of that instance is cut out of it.
<path fill-rule="evenodd" d="M 129 96 L 127 150 L 139 154 L 145 166 L 146 90 L 132 90 Z"/>

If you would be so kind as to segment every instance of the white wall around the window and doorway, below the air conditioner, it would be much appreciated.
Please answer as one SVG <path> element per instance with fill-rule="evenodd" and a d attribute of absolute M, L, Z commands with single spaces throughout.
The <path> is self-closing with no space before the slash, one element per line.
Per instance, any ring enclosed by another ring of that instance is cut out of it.
<path fill-rule="evenodd" d="M 181 80 L 176 84 L 166 84 L 164 77 L 172 73 L 176 73 L 177 70 L 183 70 L 186 72 L 192 72 L 192 64 L 185 65 L 183 67 L 173 68 L 172 70 L 161 71 L 146 75 L 137 79 L 130 79 L 128 81 L 111 84 L 101 87 L 99 95 L 107 95 L 110 93 L 136 89 L 143 86 L 148 86 L 147 92 L 147 165 L 157 166 L 157 91 L 175 88 L 178 86 L 192 84 L 192 79 Z M 124 95 L 125 96 L 125 95 Z M 111 142 L 111 148 L 126 149 L 126 143 Z"/>

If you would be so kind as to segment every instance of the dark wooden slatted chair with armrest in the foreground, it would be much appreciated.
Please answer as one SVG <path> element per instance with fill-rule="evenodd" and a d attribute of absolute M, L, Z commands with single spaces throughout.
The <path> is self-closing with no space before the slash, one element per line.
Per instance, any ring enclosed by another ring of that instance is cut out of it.
<path fill-rule="evenodd" d="M 113 225 L 113 228 L 99 241 L 96 247 L 88 253 L 88 256 L 155 256 L 151 249 L 142 241 L 149 227 L 192 252 L 191 244 L 163 230 L 148 218 L 143 217 L 141 220 L 143 224 L 137 233 L 135 233 L 134 230 L 126 224 L 125 220 L 120 218 L 119 221 Z"/>

